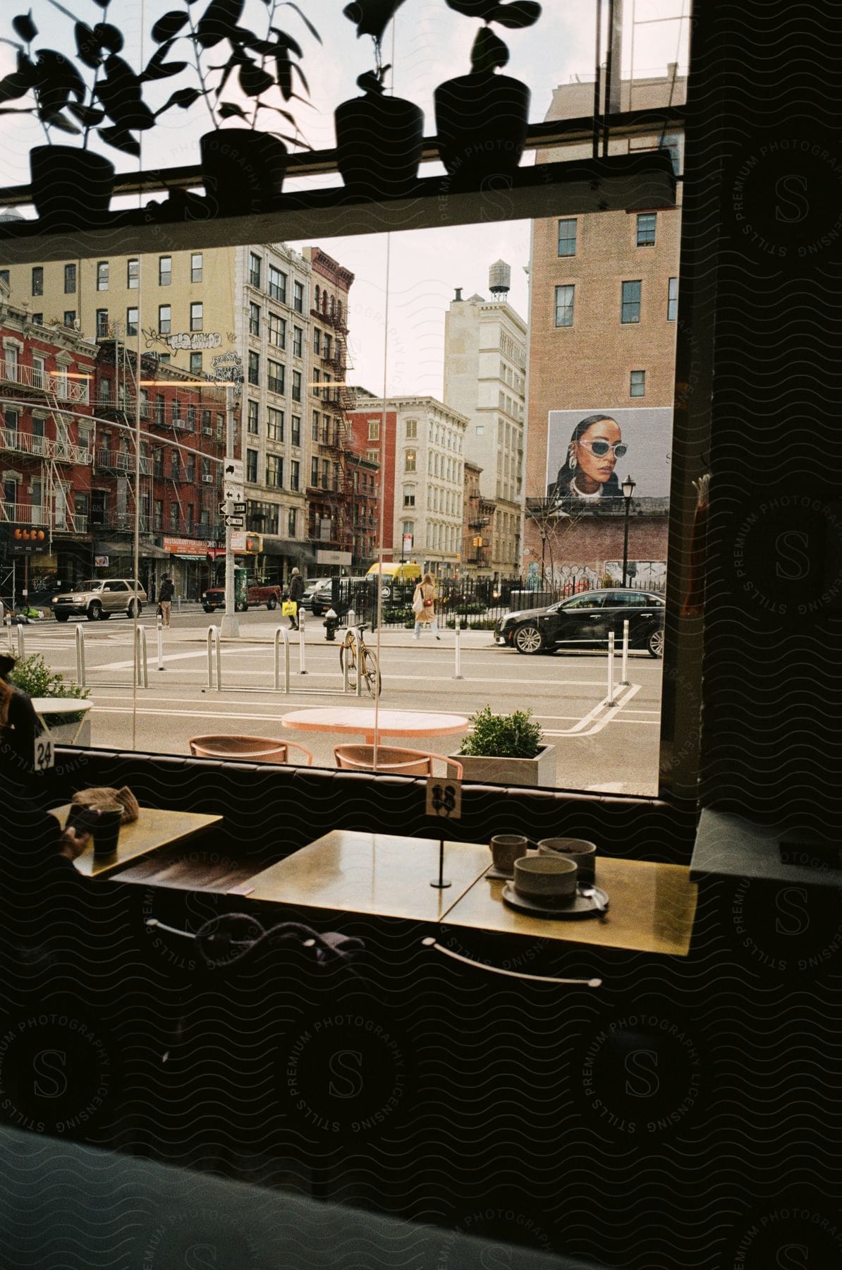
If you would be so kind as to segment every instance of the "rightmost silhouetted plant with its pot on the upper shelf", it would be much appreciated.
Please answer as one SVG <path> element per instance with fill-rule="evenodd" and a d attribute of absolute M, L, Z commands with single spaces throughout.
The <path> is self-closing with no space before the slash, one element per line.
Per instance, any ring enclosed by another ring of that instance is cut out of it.
<path fill-rule="evenodd" d="M 530 118 L 530 90 L 497 75 L 509 60 L 490 29 L 531 27 L 541 14 L 535 0 L 447 0 L 451 9 L 485 25 L 471 48 L 471 72 L 441 84 L 434 93 L 438 154 L 456 187 L 478 185 L 490 173 L 511 175 L 521 161 Z"/>

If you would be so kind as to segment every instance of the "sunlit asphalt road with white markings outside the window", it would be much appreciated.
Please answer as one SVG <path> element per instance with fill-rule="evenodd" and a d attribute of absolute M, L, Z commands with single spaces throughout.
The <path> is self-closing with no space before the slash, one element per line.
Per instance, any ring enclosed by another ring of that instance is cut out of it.
<path fill-rule="evenodd" d="M 202 733 L 248 733 L 287 737 L 306 745 L 317 766 L 334 766 L 333 745 L 351 742 L 283 729 L 281 716 L 305 706 L 367 705 L 363 696 L 343 696 L 339 643 L 328 643 L 321 618 L 305 621 L 305 664 L 301 673 L 298 636 L 290 645 L 290 695 L 276 692 L 274 632 L 287 627 L 278 612 L 239 615 L 240 638 L 221 643 L 222 691 L 208 688 L 208 617 L 198 606 L 173 615 L 163 634 L 163 664 L 157 669 L 157 634 L 152 611 L 138 625 L 146 634 L 149 687 L 132 686 L 133 624 L 123 617 L 108 622 L 83 621 L 86 683 L 91 690 L 94 745 L 188 753 L 188 738 Z M 76 679 L 76 626 L 52 618 L 23 627 L 27 654 L 42 653 L 53 671 Z M 3 636 L 5 644 L 6 635 Z M 11 631 L 17 649 L 17 631 Z M 381 631 L 380 665 L 382 709 L 441 710 L 470 715 L 485 704 L 500 712 L 532 709 L 545 738 L 556 748 L 558 785 L 566 789 L 655 794 L 662 663 L 645 653 L 629 654 L 627 685 L 616 686 L 607 704 L 605 653 L 556 653 L 522 657 L 491 643 L 490 631 L 466 632 L 461 639 L 461 678 L 456 678 L 453 632 L 439 643 L 425 634 Z M 376 644 L 376 635 L 371 636 Z M 615 685 L 621 658 L 615 658 Z M 283 674 L 281 676 L 283 686 Z M 135 711 L 132 714 L 132 706 Z M 400 744 L 390 738 L 391 744 Z M 408 740 L 436 753 L 455 752 L 458 737 Z"/>

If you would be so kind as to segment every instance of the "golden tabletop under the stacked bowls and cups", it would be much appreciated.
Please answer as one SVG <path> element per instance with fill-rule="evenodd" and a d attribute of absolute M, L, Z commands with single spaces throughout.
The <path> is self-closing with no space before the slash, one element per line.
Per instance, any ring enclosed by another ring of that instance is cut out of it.
<path fill-rule="evenodd" d="M 491 878 L 474 883 L 447 911 L 444 922 L 502 935 L 687 956 L 697 892 L 690 869 L 597 856 L 597 884 L 611 900 L 605 922 L 597 917 L 549 921 L 518 912 L 503 903 L 505 883 Z"/>

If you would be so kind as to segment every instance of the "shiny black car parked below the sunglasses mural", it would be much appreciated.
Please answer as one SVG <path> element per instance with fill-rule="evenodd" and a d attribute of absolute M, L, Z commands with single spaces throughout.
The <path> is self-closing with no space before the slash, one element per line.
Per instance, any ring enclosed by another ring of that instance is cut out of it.
<path fill-rule="evenodd" d="M 664 646 L 664 601 L 645 591 L 585 591 L 545 608 L 505 613 L 494 629 L 494 643 L 518 653 L 554 653 L 559 648 L 606 648 L 608 634 L 622 639 L 629 621 L 629 648 L 660 657 Z"/>

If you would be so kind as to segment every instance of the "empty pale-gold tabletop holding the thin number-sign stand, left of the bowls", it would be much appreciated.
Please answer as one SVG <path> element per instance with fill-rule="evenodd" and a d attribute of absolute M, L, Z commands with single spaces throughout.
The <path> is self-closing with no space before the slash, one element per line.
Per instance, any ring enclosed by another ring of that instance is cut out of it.
<path fill-rule="evenodd" d="M 250 878 L 237 894 L 301 908 L 438 922 L 491 864 L 485 846 L 444 843 L 444 890 L 438 876 L 438 841 L 389 833 L 334 829 L 309 847 Z"/>

